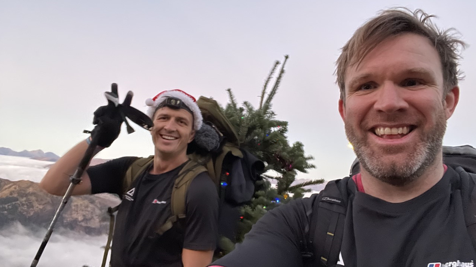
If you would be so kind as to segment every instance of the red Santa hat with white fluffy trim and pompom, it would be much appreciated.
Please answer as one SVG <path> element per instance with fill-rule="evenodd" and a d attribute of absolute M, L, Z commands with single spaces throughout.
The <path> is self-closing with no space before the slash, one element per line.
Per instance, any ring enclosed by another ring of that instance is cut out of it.
<path fill-rule="evenodd" d="M 154 98 L 147 99 L 145 101 L 145 105 L 149 106 L 147 109 L 147 115 L 153 119 L 157 107 L 159 107 L 159 105 L 169 97 L 180 99 L 182 104 L 190 109 L 189 111 L 191 111 L 194 117 L 194 130 L 200 129 L 203 122 L 203 117 L 201 116 L 200 108 L 197 105 L 197 100 L 195 97 L 179 89 L 162 91 L 158 95 L 154 96 Z"/>

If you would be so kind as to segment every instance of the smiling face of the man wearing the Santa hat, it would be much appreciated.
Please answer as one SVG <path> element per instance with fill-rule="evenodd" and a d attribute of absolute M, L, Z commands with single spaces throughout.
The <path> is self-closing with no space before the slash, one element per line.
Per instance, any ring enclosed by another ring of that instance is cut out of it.
<path fill-rule="evenodd" d="M 154 114 L 151 130 L 156 155 L 179 157 L 186 155 L 187 145 L 195 137 L 193 116 L 185 109 L 161 107 Z"/>

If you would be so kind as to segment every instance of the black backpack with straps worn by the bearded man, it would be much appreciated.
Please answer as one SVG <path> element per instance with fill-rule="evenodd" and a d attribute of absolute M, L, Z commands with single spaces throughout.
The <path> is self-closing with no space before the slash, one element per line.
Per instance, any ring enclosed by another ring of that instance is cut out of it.
<path fill-rule="evenodd" d="M 455 168 L 461 177 L 452 184 L 452 191 L 461 191 L 466 227 L 476 248 L 476 149 L 470 145 L 443 146 L 443 163 Z M 344 220 L 348 204 L 348 183 L 359 172 L 356 159 L 351 166 L 350 176 L 327 183 L 324 190 L 315 194 L 312 207 L 306 211 L 308 225 L 301 242 L 301 256 L 305 267 L 335 266 L 342 259 Z M 355 186 L 352 182 L 351 186 Z"/>

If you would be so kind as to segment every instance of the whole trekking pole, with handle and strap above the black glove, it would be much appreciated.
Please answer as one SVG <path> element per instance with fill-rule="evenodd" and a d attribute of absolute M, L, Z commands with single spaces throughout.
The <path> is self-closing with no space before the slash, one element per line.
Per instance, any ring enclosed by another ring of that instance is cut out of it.
<path fill-rule="evenodd" d="M 134 129 L 127 123 L 126 118 L 129 118 L 131 121 L 146 130 L 150 130 L 154 125 L 152 123 L 152 120 L 147 115 L 145 115 L 138 109 L 131 107 L 132 96 L 134 95 L 132 91 L 127 92 L 124 102 L 122 104 L 119 104 L 117 84 L 113 83 L 111 85 L 111 92 L 105 92 L 104 94 L 106 96 L 107 101 L 114 104 L 114 106 L 118 108 L 118 112 L 120 113 L 122 120 L 127 125 L 128 133 L 134 132 Z M 91 133 L 90 131 L 84 132 Z M 63 211 L 66 203 L 68 203 L 68 200 L 71 197 L 75 186 L 79 184 L 79 182 L 81 182 L 81 176 L 88 167 L 89 161 L 91 161 L 91 159 L 94 157 L 94 151 L 96 150 L 97 146 L 97 141 L 93 139 L 88 145 L 88 148 L 86 149 L 86 152 L 84 153 L 81 162 L 79 162 L 76 172 L 73 174 L 73 176 L 69 178 L 71 182 L 68 186 L 68 189 L 66 190 L 66 193 L 64 194 L 61 203 L 59 204 L 58 210 L 56 211 L 55 216 L 53 217 L 53 220 L 51 221 L 50 226 L 48 227 L 48 231 L 46 232 L 43 238 L 43 242 L 41 242 L 40 249 L 38 249 L 38 252 L 35 258 L 33 259 L 33 262 L 31 263 L 30 267 L 36 267 L 38 262 L 40 261 L 41 254 L 43 253 L 43 250 L 45 249 L 48 240 L 50 240 L 50 236 L 53 233 L 53 228 L 55 227 L 55 224 L 58 221 L 59 214 Z"/>

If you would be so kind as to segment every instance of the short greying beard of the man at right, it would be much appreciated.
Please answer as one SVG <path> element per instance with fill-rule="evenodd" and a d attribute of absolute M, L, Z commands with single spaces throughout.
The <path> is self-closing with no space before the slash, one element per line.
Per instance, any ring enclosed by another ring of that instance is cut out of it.
<path fill-rule="evenodd" d="M 444 110 L 441 109 L 436 114 L 435 125 L 428 131 L 422 131 L 419 140 L 412 147 L 413 152 L 406 155 L 401 162 L 386 162 L 383 160 L 385 155 L 402 152 L 408 149 L 408 146 L 389 145 L 382 151 L 383 153 L 379 153 L 370 147 L 365 135 L 359 137 L 355 128 L 345 124 L 345 133 L 354 147 L 360 166 L 373 177 L 394 186 L 404 186 L 415 181 L 435 162 L 436 157 L 441 153 L 445 131 L 446 116 Z"/>

